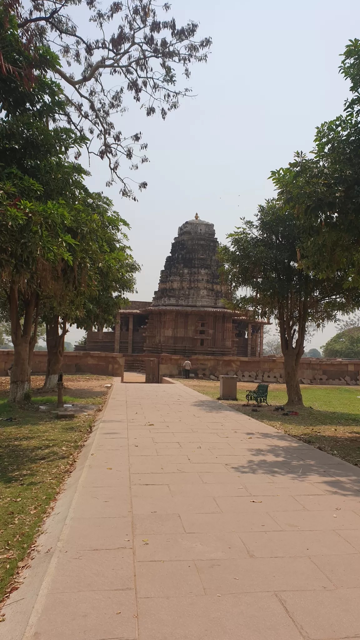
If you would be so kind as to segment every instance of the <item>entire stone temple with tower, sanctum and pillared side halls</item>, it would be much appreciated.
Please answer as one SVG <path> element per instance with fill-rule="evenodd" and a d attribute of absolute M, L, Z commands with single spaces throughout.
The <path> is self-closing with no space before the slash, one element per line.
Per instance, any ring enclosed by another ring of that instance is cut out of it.
<path fill-rule="evenodd" d="M 206 356 L 263 355 L 263 321 L 225 307 L 214 225 L 184 222 L 160 273 L 152 302 L 120 310 L 113 332 L 88 332 L 87 351 Z"/>

